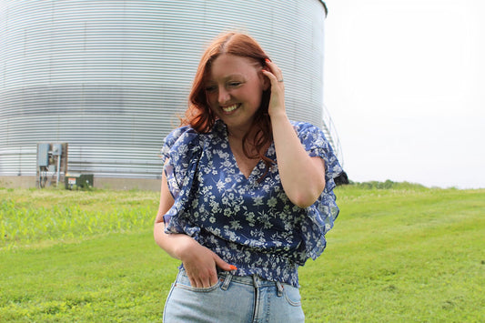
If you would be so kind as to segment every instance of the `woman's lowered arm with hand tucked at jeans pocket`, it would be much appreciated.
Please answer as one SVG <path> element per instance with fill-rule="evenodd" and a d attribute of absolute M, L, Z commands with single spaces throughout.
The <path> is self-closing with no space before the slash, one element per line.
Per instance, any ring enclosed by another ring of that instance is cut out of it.
<path fill-rule="evenodd" d="M 167 177 L 162 175 L 160 189 L 160 205 L 154 226 L 154 237 L 157 245 L 167 251 L 171 257 L 181 260 L 190 279 L 190 285 L 195 288 L 208 288 L 217 283 L 217 269 L 233 270 L 207 247 L 201 246 L 194 238 L 185 234 L 165 233 L 164 215 L 174 205 L 175 201 L 168 190 Z"/>

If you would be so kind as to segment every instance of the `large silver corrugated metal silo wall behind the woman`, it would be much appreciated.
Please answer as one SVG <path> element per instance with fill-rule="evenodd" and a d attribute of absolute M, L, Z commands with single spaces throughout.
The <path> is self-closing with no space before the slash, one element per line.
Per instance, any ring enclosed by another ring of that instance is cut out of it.
<path fill-rule="evenodd" d="M 158 178 L 199 57 L 222 31 L 253 35 L 282 68 L 288 115 L 321 126 L 317 0 L 0 0 L 0 176 L 35 176 L 36 143 L 68 169 Z"/>

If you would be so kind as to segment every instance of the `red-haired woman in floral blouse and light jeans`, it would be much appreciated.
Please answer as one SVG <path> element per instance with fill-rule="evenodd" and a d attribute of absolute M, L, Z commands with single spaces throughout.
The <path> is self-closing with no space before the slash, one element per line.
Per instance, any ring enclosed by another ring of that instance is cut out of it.
<path fill-rule="evenodd" d="M 284 90 L 248 35 L 202 56 L 162 149 L 155 239 L 182 262 L 164 321 L 304 321 L 298 266 L 325 248 L 341 168 L 316 126 L 288 120 Z"/>

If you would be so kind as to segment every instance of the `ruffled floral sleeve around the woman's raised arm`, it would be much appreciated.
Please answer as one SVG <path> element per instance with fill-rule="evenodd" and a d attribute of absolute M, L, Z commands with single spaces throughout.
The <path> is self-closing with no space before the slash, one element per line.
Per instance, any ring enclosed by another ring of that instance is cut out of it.
<path fill-rule="evenodd" d="M 333 227 L 339 212 L 333 193 L 336 187 L 334 178 L 343 169 L 321 129 L 308 123 L 296 123 L 294 126 L 308 155 L 319 156 L 325 161 L 325 188 L 318 200 L 306 208 L 307 217 L 303 219 L 301 226 L 305 256 L 300 260 L 304 263 L 309 257 L 315 260 L 327 245 L 325 235 Z"/>

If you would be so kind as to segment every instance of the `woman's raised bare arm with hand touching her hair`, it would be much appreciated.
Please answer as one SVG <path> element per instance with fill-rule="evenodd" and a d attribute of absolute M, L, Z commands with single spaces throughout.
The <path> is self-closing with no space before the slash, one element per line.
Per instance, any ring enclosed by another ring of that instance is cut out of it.
<path fill-rule="evenodd" d="M 325 188 L 325 162 L 320 157 L 308 156 L 288 120 L 285 86 L 281 82 L 283 76 L 278 66 L 267 61 L 263 74 L 271 82 L 268 114 L 273 128 L 281 184 L 291 202 L 298 207 L 309 207 Z"/>

